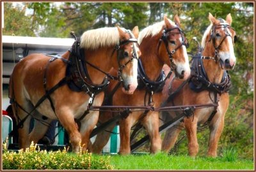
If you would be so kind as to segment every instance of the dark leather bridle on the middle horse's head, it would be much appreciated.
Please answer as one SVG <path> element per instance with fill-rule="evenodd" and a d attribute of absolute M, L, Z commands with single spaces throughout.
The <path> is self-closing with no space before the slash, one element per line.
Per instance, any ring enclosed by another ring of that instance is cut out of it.
<path fill-rule="evenodd" d="M 174 29 L 178 29 L 179 32 L 172 32 Z M 168 39 L 166 38 L 168 36 L 168 33 L 171 32 L 171 33 L 175 33 L 175 34 L 180 34 L 181 35 L 181 38 L 182 38 L 182 42 L 181 44 L 176 47 L 174 50 L 172 50 L 172 52 L 169 50 L 168 48 Z M 186 48 L 188 48 L 189 44 L 188 44 L 188 41 L 187 39 L 185 38 L 185 34 L 184 32 L 179 28 L 179 27 L 173 27 L 171 29 L 166 29 L 164 28 L 163 30 L 163 34 L 162 34 L 162 37 L 160 39 L 160 41 L 164 42 L 164 45 L 165 45 L 165 48 L 166 48 L 166 51 L 168 53 L 168 56 L 169 56 L 169 59 L 170 59 L 170 62 L 171 62 L 171 71 L 174 71 L 175 69 L 177 69 L 177 66 L 176 64 L 173 62 L 173 54 L 175 54 L 175 52 L 180 48 L 182 47 L 182 45 L 185 45 Z M 159 47 L 158 47 L 159 48 Z"/>

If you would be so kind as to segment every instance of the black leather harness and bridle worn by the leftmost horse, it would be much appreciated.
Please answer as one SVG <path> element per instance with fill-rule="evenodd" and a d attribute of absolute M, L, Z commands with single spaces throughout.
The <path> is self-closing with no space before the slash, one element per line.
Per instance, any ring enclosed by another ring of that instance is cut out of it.
<path fill-rule="evenodd" d="M 131 36 L 131 31 L 127 30 L 126 32 L 128 32 Z M 60 55 L 47 55 L 47 54 L 45 54 L 45 55 L 51 57 L 51 59 L 47 62 L 46 66 L 45 66 L 45 73 L 44 73 L 44 78 L 43 78 L 45 94 L 44 94 L 44 96 L 42 96 L 38 100 L 38 102 L 33 107 L 33 110 L 31 110 L 29 112 L 29 111 L 26 111 L 22 106 L 20 106 L 20 104 L 17 103 L 17 101 L 15 100 L 14 90 L 12 90 L 13 91 L 13 97 L 9 96 L 9 98 L 10 98 L 10 103 L 15 104 L 16 114 L 17 114 L 17 108 L 18 107 L 28 114 L 23 119 L 20 119 L 19 116 L 17 115 L 18 120 L 19 120 L 19 123 L 17 124 L 17 129 L 23 127 L 23 124 L 24 124 L 25 120 L 29 117 L 29 115 L 31 115 L 31 113 L 33 113 L 33 111 L 36 110 L 36 108 L 43 101 L 45 101 L 45 99 L 48 99 L 50 101 L 51 108 L 55 113 L 54 104 L 52 102 L 52 99 L 51 99 L 50 95 L 56 89 L 60 88 L 61 86 L 65 85 L 65 84 L 68 84 L 68 87 L 73 91 L 77 91 L 77 92 L 84 91 L 90 96 L 90 99 L 88 101 L 87 110 L 84 111 L 83 115 L 80 118 L 76 119 L 76 122 L 79 123 L 89 113 L 89 108 L 90 108 L 90 106 L 92 106 L 93 99 L 94 99 L 95 95 L 99 94 L 99 92 L 102 92 L 108 86 L 108 84 L 109 84 L 108 78 L 111 78 L 113 80 L 119 80 L 120 82 L 122 82 L 122 76 L 120 75 L 122 73 L 122 70 L 133 59 L 138 60 L 138 57 L 137 57 L 136 51 L 135 51 L 135 47 L 133 46 L 133 54 L 132 54 L 131 59 L 129 59 L 129 61 L 125 62 L 124 65 L 122 65 L 122 66 L 120 65 L 120 58 L 124 58 L 124 57 L 120 57 L 120 46 L 125 45 L 127 43 L 138 43 L 137 39 L 132 38 L 132 36 L 131 36 L 130 39 L 127 39 L 125 41 L 120 41 L 119 45 L 116 45 L 113 49 L 113 53 L 116 51 L 117 54 L 118 54 L 119 69 L 118 69 L 118 78 L 116 78 L 115 76 L 111 76 L 109 73 L 106 73 L 106 72 L 102 71 L 101 69 L 97 68 L 96 66 L 94 66 L 90 62 L 86 61 L 84 59 L 84 55 L 83 55 L 84 50 L 83 50 L 83 48 L 80 48 L 80 46 L 79 46 L 80 45 L 79 39 L 76 38 L 76 36 L 74 35 L 74 32 L 70 32 L 70 34 L 72 36 L 74 36 L 75 42 L 72 45 L 72 48 L 69 50 L 70 51 L 70 56 L 68 58 L 69 60 L 64 59 Z M 112 53 L 112 55 L 113 55 L 113 53 Z M 56 85 L 54 85 L 54 87 L 52 87 L 51 89 L 47 89 L 47 87 L 46 87 L 46 83 L 47 83 L 46 74 L 47 74 L 49 65 L 51 64 L 51 62 L 56 61 L 56 59 L 61 59 L 61 61 L 65 62 L 65 64 L 67 64 L 66 76 L 63 79 L 61 79 L 60 82 L 58 82 Z M 100 72 L 102 72 L 106 75 L 106 78 L 104 78 L 104 81 L 102 82 L 101 85 L 93 85 L 92 80 L 90 80 L 90 76 L 88 75 L 86 65 L 84 65 L 84 64 L 88 64 L 88 65 L 92 66 L 93 68 L 99 70 Z M 12 84 L 13 84 L 13 80 L 12 80 Z M 55 115 L 56 115 L 56 113 L 55 113 Z M 47 117 L 45 117 L 45 116 L 43 116 L 42 118 L 43 118 L 43 120 L 47 119 Z M 45 123 L 41 119 L 38 119 L 38 118 L 35 118 L 35 119 L 42 122 L 42 124 Z M 45 125 L 47 125 L 47 124 L 45 124 Z M 9 133 L 9 136 L 10 137 L 13 136 L 13 134 L 15 132 L 17 132 L 17 131 L 13 130 L 11 133 Z"/>

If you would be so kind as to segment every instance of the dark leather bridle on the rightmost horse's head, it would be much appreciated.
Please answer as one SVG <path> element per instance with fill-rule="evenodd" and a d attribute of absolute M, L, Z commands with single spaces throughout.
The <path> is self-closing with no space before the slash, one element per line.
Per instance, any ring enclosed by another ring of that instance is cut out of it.
<path fill-rule="evenodd" d="M 234 31 L 234 28 L 233 28 L 233 27 L 230 27 L 230 25 L 226 24 L 225 21 L 224 21 L 222 18 L 219 18 L 218 20 L 221 22 L 221 24 L 219 24 L 219 25 L 214 25 L 214 26 L 212 27 L 211 38 L 209 39 L 209 42 L 210 42 L 211 39 L 212 39 L 213 47 L 214 47 L 214 49 L 215 49 L 215 53 L 214 53 L 214 61 L 215 61 L 215 62 L 220 61 L 220 57 L 218 56 L 218 53 L 219 53 L 219 50 L 220 50 L 220 48 L 221 48 L 221 45 L 222 45 L 223 41 L 224 41 L 228 36 L 230 36 L 231 39 L 232 39 L 232 41 L 233 41 L 233 44 L 234 44 L 234 43 L 236 43 L 236 39 L 237 39 L 236 36 L 234 36 L 234 40 L 233 40 L 232 36 L 231 36 L 231 35 L 229 34 L 229 32 L 228 32 L 228 29 L 232 29 L 232 30 Z M 225 37 L 221 40 L 220 44 L 219 44 L 218 46 L 216 46 L 216 38 L 215 38 L 216 34 L 215 34 L 215 30 L 216 30 L 216 29 L 219 29 L 219 28 L 224 28 Z"/>

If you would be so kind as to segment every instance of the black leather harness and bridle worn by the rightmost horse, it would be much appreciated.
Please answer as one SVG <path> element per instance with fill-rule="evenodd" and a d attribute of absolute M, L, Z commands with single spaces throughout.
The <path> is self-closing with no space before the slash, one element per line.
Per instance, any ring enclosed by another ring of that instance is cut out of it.
<path fill-rule="evenodd" d="M 219 18 L 218 20 L 220 20 L 220 22 L 223 22 L 224 20 L 222 18 Z M 215 29 L 216 28 L 220 28 L 223 27 L 223 29 L 225 30 L 225 37 L 221 40 L 220 45 L 216 46 L 216 42 L 215 42 Z M 212 27 L 212 32 L 211 32 L 211 37 L 209 39 L 209 41 L 213 41 L 213 46 L 215 48 L 215 52 L 214 52 L 214 57 L 207 57 L 207 56 L 202 56 L 201 52 L 199 52 L 197 55 L 193 56 L 192 58 L 192 64 L 191 64 L 191 76 L 189 77 L 188 80 L 184 81 L 179 87 L 178 89 L 176 89 L 174 92 L 170 92 L 170 96 L 168 97 L 167 101 L 164 103 L 168 103 L 170 101 L 173 102 L 173 99 L 175 96 L 177 96 L 177 94 L 179 93 L 179 91 L 184 87 L 184 85 L 186 85 L 187 83 L 189 84 L 189 87 L 191 90 L 195 91 L 195 92 L 202 92 L 203 90 L 208 90 L 209 91 L 209 97 L 210 96 L 210 92 L 214 93 L 214 100 L 212 100 L 214 102 L 214 104 L 218 104 L 218 101 L 220 100 L 220 95 L 223 92 L 228 92 L 228 90 L 231 87 L 231 80 L 230 80 L 230 75 L 228 74 L 228 71 L 224 70 L 222 79 L 221 79 L 221 83 L 212 83 L 209 81 L 209 78 L 207 77 L 207 74 L 205 73 L 205 68 L 204 68 L 204 64 L 202 62 L 202 59 L 206 59 L 206 60 L 213 60 L 215 62 L 220 62 L 221 68 L 222 68 L 222 61 L 220 60 L 220 57 L 218 56 L 218 52 L 220 50 L 220 47 L 223 43 L 223 41 L 225 40 L 225 38 L 227 38 L 227 36 L 231 35 L 229 34 L 229 32 L 227 31 L 228 29 L 233 29 L 232 27 L 230 27 L 230 25 L 228 24 L 219 24 L 216 25 L 214 27 Z M 234 30 L 234 29 L 233 29 Z M 233 43 L 236 42 L 236 36 L 234 37 L 234 41 Z M 202 48 L 198 48 L 199 50 L 202 50 Z M 172 84 L 172 82 L 171 82 Z M 175 104 L 173 103 L 173 106 Z M 212 118 L 214 117 L 214 115 L 216 114 L 218 109 L 218 106 L 214 106 L 214 110 L 212 111 L 210 117 L 208 118 L 206 123 L 211 122 Z"/>

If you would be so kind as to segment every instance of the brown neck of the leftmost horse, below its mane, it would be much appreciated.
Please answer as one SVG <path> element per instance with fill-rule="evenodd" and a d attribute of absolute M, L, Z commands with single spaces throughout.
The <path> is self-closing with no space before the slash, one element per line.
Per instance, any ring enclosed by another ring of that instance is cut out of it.
<path fill-rule="evenodd" d="M 100 70 L 108 73 L 112 67 L 111 63 L 111 53 L 113 48 L 101 48 L 100 50 L 84 50 L 84 58 L 86 61 L 90 62 L 94 66 L 97 66 Z M 113 55 L 115 56 L 115 55 Z M 86 65 L 86 64 L 84 64 Z M 93 68 L 90 65 L 86 65 L 88 75 L 90 76 L 94 84 L 100 84 L 103 82 L 104 77 L 106 76 L 101 71 Z"/>

